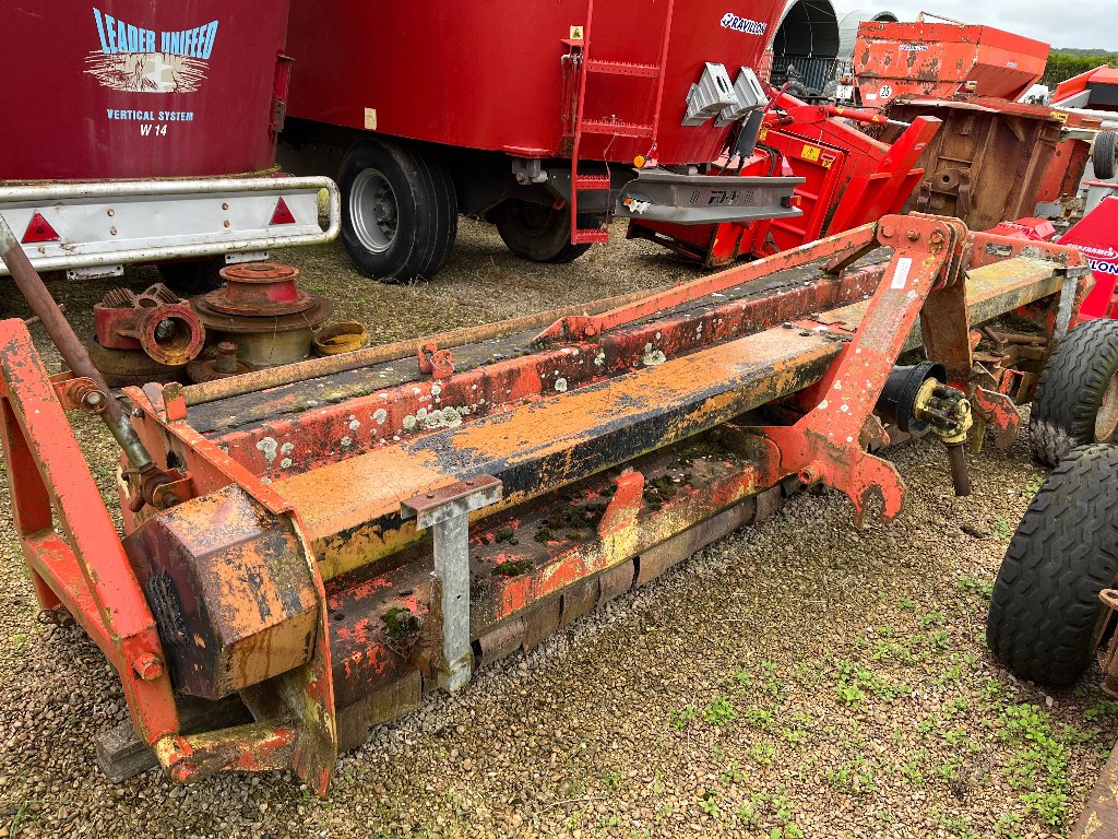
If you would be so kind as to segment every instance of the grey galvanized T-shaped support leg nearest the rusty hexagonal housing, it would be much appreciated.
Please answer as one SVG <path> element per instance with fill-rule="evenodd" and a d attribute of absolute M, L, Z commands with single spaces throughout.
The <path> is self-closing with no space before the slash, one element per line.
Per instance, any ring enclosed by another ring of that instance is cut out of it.
<path fill-rule="evenodd" d="M 470 513 L 501 500 L 504 488 L 489 475 L 456 481 L 400 503 L 400 517 L 416 519 L 420 530 L 434 528 L 435 578 L 443 615 L 443 654 L 438 685 L 455 691 L 470 681 L 474 653 L 470 644 Z"/>

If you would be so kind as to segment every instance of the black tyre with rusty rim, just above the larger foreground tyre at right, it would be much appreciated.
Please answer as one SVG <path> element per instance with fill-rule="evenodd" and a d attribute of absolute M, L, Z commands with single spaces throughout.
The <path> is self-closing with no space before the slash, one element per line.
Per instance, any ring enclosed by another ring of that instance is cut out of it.
<path fill-rule="evenodd" d="M 1054 466 L 1077 445 L 1109 443 L 1118 428 L 1118 321 L 1076 327 L 1055 348 L 1029 420 L 1033 456 Z"/>

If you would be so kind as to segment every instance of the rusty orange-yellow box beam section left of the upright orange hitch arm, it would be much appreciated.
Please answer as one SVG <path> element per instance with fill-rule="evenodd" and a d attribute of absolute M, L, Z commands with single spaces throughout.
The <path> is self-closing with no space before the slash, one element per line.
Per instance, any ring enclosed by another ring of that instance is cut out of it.
<path fill-rule="evenodd" d="M 273 482 L 299 509 L 325 577 L 414 540 L 399 505 L 463 478 L 505 506 L 713 427 L 817 379 L 840 345 L 774 329 L 415 441 Z"/>

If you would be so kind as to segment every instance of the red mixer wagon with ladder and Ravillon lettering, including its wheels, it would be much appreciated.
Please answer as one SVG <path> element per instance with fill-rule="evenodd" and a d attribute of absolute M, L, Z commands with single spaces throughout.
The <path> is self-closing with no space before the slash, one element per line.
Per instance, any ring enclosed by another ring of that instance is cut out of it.
<path fill-rule="evenodd" d="M 338 173 L 342 238 L 387 280 L 430 276 L 457 215 L 568 262 L 612 216 L 792 217 L 796 179 L 713 176 L 756 135 L 752 73 L 781 0 L 296 0 L 290 168 Z M 756 115 L 756 116 L 755 116 Z"/>

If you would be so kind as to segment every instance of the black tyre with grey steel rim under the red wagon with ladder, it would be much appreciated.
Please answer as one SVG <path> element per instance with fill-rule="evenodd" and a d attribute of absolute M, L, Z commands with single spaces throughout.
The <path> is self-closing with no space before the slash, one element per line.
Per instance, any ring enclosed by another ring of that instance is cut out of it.
<path fill-rule="evenodd" d="M 430 280 L 458 233 L 458 201 L 445 167 L 404 143 L 363 140 L 342 159 L 342 244 L 364 276 Z"/>

